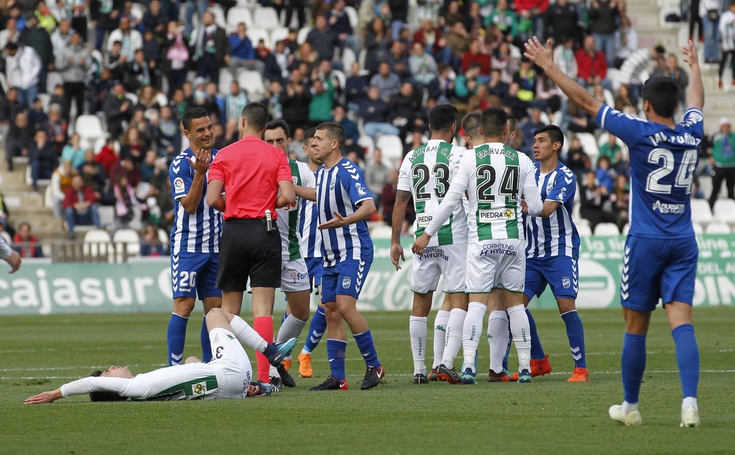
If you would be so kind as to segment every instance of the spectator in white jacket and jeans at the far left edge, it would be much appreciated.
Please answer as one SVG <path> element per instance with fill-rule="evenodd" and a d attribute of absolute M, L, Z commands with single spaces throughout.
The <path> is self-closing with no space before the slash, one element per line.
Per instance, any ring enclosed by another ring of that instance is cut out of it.
<path fill-rule="evenodd" d="M 5 46 L 7 84 L 18 89 L 18 101 L 30 106 L 38 94 L 41 59 L 31 46 L 7 43 Z"/>

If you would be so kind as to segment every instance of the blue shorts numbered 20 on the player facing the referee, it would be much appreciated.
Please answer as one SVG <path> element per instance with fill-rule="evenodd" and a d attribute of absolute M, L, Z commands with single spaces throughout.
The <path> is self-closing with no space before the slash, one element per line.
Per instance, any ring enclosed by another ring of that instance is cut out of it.
<path fill-rule="evenodd" d="M 217 289 L 218 253 L 189 253 L 181 251 L 171 254 L 171 287 L 173 298 L 199 296 L 222 297 Z"/>

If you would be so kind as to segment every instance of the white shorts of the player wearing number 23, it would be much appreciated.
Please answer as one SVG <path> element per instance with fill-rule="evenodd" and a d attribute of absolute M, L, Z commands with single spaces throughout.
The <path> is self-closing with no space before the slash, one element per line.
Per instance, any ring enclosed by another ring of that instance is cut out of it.
<path fill-rule="evenodd" d="M 413 255 L 411 290 L 426 294 L 437 290 L 439 277 L 444 276 L 445 293 L 465 292 L 467 243 L 424 248 L 423 256 Z"/>

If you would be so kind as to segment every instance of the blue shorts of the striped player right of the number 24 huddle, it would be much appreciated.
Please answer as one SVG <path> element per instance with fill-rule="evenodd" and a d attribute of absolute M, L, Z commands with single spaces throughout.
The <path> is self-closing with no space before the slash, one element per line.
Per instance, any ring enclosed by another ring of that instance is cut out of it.
<path fill-rule="evenodd" d="M 526 288 L 523 292 L 528 300 L 539 297 L 547 284 L 555 298 L 576 299 L 579 290 L 577 259 L 568 256 L 527 258 Z"/>

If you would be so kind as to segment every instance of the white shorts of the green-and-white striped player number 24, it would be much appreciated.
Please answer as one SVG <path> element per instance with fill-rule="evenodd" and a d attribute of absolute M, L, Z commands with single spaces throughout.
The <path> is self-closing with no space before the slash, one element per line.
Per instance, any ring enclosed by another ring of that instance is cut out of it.
<path fill-rule="evenodd" d="M 493 287 L 522 293 L 526 286 L 526 240 L 484 240 L 467 246 L 467 293 Z"/>

